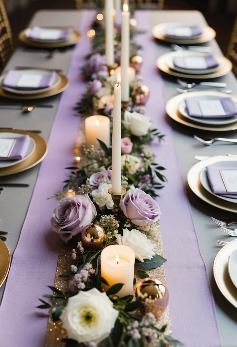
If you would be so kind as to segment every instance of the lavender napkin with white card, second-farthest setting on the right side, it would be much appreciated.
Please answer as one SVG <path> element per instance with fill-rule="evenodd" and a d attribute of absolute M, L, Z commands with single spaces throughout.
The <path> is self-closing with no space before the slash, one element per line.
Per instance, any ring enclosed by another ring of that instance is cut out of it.
<path fill-rule="evenodd" d="M 177 56 L 173 58 L 173 64 L 181 69 L 195 70 L 212 69 L 219 65 L 212 54 L 208 56 Z"/>

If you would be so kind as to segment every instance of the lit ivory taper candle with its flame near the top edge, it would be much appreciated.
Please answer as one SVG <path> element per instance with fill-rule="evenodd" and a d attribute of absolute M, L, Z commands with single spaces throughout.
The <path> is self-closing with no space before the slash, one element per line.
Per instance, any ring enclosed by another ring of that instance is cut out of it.
<path fill-rule="evenodd" d="M 122 12 L 122 31 L 121 31 L 121 100 L 129 100 L 129 80 L 128 68 L 130 61 L 130 12 L 128 5 L 123 5 Z"/>

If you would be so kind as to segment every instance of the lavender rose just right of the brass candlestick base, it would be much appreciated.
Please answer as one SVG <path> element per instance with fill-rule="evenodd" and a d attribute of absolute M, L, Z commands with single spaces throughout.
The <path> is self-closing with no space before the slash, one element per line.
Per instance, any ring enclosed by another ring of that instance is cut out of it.
<path fill-rule="evenodd" d="M 139 227 L 154 224 L 160 219 L 161 211 L 157 202 L 148 194 L 136 188 L 125 195 L 120 207 L 131 222 Z"/>

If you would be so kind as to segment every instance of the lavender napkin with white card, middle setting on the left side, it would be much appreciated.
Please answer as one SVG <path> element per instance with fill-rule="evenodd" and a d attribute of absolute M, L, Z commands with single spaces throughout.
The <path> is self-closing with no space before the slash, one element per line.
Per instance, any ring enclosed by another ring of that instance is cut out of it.
<path fill-rule="evenodd" d="M 51 87 L 54 84 L 56 72 L 9 70 L 3 80 L 3 86 L 19 90 L 37 90 Z"/>

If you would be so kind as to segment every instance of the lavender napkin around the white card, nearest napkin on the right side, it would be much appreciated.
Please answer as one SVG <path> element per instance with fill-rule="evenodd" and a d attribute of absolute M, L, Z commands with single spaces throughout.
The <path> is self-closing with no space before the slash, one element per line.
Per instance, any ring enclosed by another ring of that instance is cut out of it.
<path fill-rule="evenodd" d="M 223 170 L 237 170 L 237 168 L 233 167 L 217 167 L 217 166 L 207 166 L 207 178 L 209 180 L 210 186 L 212 188 L 212 192 L 214 194 L 218 194 L 225 197 L 230 197 L 233 199 L 237 199 L 237 191 L 236 192 L 227 192 L 226 187 L 224 185 L 223 179 L 221 177 L 221 171 Z"/>

